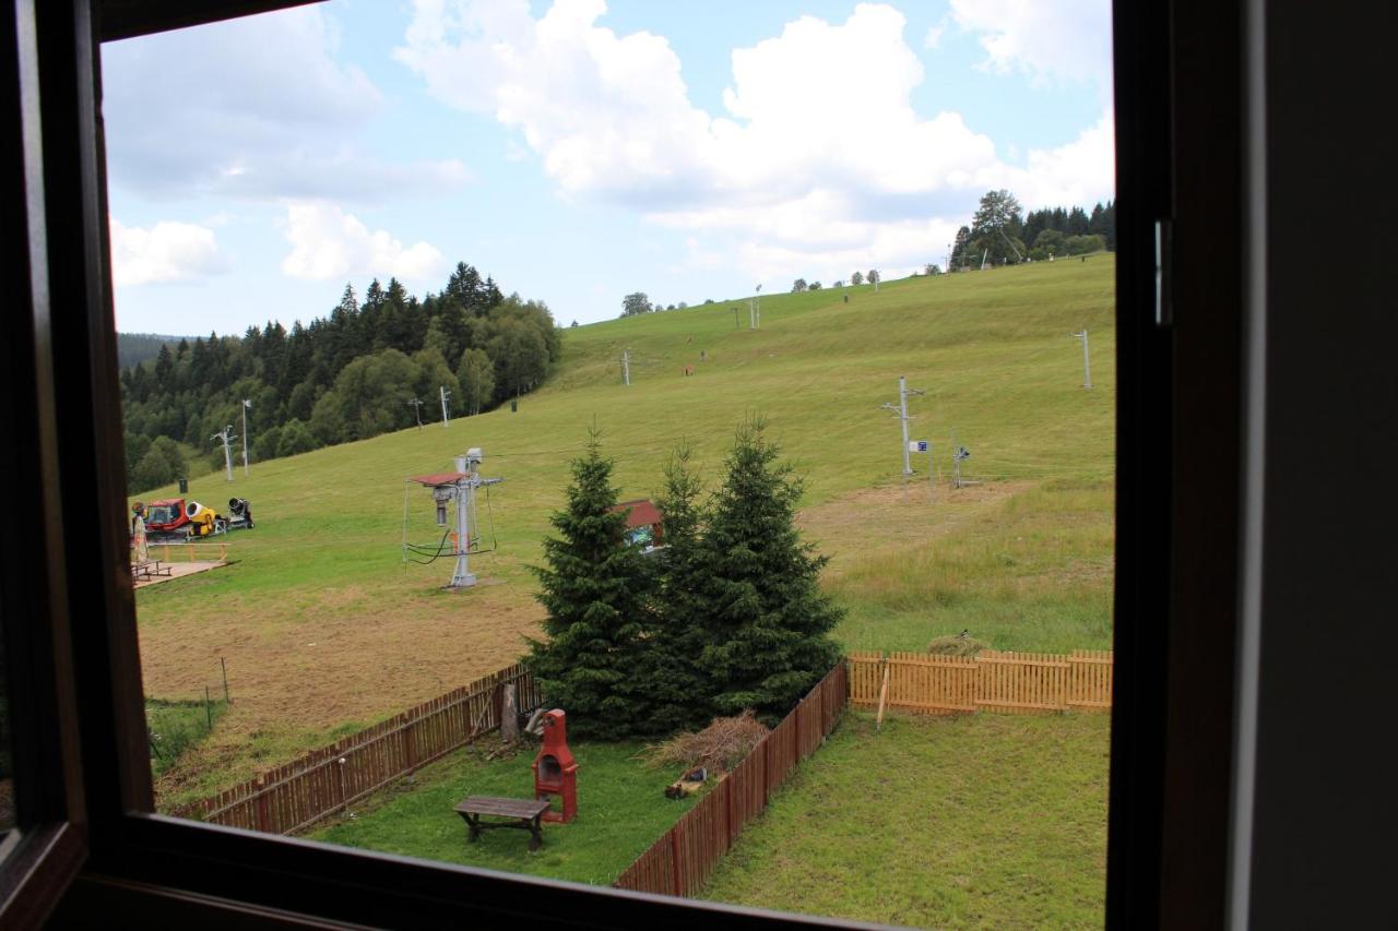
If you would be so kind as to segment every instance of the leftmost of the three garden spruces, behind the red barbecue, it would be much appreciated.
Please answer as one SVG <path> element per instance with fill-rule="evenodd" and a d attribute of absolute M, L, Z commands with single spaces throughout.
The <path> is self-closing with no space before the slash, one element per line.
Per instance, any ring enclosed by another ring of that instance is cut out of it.
<path fill-rule="evenodd" d="M 598 739 L 628 737 L 644 717 L 636 671 L 650 568 L 626 544 L 626 514 L 611 510 L 611 471 L 594 432 L 573 460 L 568 503 L 551 519 L 559 535 L 544 540 L 547 565 L 534 568 L 548 640 L 533 640 L 526 658 L 545 700 L 568 713 L 569 734 Z"/>

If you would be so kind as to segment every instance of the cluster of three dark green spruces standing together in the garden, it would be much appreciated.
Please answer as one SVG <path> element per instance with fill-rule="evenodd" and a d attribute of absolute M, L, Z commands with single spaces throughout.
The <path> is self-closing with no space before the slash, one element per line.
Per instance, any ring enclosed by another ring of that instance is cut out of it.
<path fill-rule="evenodd" d="M 801 482 L 762 421 L 738 428 L 709 496 L 681 447 L 664 467 L 660 549 L 626 541 L 612 461 L 594 433 L 544 541 L 548 640 L 527 665 L 579 737 L 702 727 L 752 709 L 780 720 L 839 660 L 842 611 L 819 590 L 826 558 L 801 542 Z"/>

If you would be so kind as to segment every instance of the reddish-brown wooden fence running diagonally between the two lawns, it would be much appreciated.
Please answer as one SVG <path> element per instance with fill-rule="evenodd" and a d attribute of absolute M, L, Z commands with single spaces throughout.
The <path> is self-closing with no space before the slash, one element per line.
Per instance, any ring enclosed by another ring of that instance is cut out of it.
<path fill-rule="evenodd" d="M 675 896 L 698 892 L 772 791 L 835 728 L 847 700 L 849 670 L 840 663 L 612 885 Z"/>

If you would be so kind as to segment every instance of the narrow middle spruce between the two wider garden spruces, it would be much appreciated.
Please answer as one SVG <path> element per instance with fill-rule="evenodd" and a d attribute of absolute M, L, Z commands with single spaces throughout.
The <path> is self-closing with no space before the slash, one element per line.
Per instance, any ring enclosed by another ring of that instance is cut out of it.
<path fill-rule="evenodd" d="M 643 724 L 647 734 L 698 728 L 713 713 L 710 684 L 698 665 L 707 642 L 707 563 L 702 548 L 706 514 L 699 498 L 702 484 L 689 460 L 688 446 L 670 456 L 665 491 L 656 499 L 663 519 L 663 547 L 654 556 L 657 611 L 637 670 L 649 705 Z"/>

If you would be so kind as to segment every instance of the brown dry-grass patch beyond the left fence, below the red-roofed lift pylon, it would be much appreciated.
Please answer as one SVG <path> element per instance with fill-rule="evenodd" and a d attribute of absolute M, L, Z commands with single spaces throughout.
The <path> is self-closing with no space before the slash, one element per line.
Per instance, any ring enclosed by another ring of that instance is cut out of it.
<path fill-rule="evenodd" d="M 246 602 L 217 623 L 140 628 L 147 695 L 221 692 L 232 705 L 212 737 L 162 780 L 161 794 L 221 773 L 221 786 L 329 742 L 519 660 L 542 608 L 513 586 L 424 591 L 407 579 L 298 593 L 298 605 Z M 338 728 L 338 730 L 337 730 Z"/>

